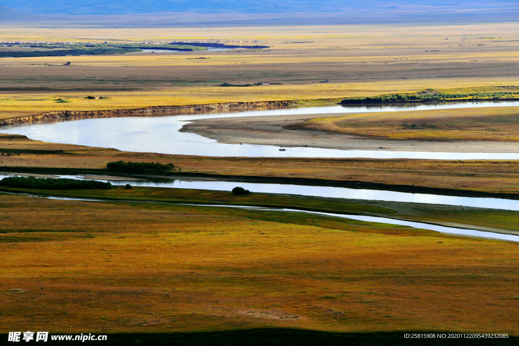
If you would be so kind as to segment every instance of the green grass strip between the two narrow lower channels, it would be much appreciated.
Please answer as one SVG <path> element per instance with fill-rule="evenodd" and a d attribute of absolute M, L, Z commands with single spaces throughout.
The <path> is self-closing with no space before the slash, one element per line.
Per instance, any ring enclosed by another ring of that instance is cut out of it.
<path fill-rule="evenodd" d="M 156 187 L 136 187 L 132 190 L 115 186 L 112 190 L 59 190 L 49 191 L 34 188 L 5 187 L 1 191 L 29 193 L 39 196 L 83 198 L 105 201 L 194 203 L 220 205 L 248 205 L 260 207 L 281 207 L 306 211 L 331 212 L 351 215 L 375 215 L 395 219 L 416 220 L 452 227 L 475 228 L 484 231 L 519 234 L 519 216 L 516 211 L 491 210 L 441 204 L 416 204 L 405 202 L 383 202 L 348 200 L 342 198 L 315 198 L 306 196 L 272 195 L 253 193 L 253 196 L 234 196 L 229 191 L 171 189 Z M 294 220 L 301 225 L 335 228 L 336 224 L 325 223 L 333 218 L 316 216 L 317 219 Z M 317 220 L 317 224 L 315 223 Z M 348 225 L 372 225 L 373 223 L 342 221 Z M 388 226 L 388 225 L 385 225 Z M 340 226 L 342 227 L 342 226 Z M 340 228 L 339 227 L 339 228 Z M 378 226 L 380 227 L 380 226 Z M 400 228 L 391 226 L 391 228 Z M 406 228 L 406 227 L 403 227 Z M 0 231 L 1 232 L 1 231 Z M 408 233 L 408 230 L 406 231 Z M 389 234 L 399 234 L 392 231 Z"/>

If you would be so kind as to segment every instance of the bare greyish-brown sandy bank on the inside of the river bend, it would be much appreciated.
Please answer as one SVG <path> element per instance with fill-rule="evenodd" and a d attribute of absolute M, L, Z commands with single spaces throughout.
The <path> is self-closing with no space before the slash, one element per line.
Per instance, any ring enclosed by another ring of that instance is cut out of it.
<path fill-rule="evenodd" d="M 243 143 L 280 147 L 306 145 L 308 147 L 342 150 L 440 151 L 452 153 L 516 153 L 519 151 L 519 143 L 517 142 L 373 140 L 347 134 L 283 128 L 286 125 L 323 116 L 326 115 L 305 114 L 200 119 L 186 124 L 181 131 L 197 133 L 220 143 L 228 144 Z M 337 116 L 340 115 L 337 114 Z"/>

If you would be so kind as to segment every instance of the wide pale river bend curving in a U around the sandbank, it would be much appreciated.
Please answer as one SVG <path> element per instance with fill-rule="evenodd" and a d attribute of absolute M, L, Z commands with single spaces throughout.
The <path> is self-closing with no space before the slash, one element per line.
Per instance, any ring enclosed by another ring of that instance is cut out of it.
<path fill-rule="evenodd" d="M 339 150 L 218 143 L 201 135 L 179 132 L 184 124 L 197 119 L 254 117 L 269 115 L 345 114 L 358 112 L 397 112 L 400 110 L 447 109 L 467 107 L 517 106 L 518 101 L 447 102 L 437 104 L 394 104 L 299 107 L 275 110 L 252 110 L 236 113 L 212 113 L 161 117 L 94 118 L 71 121 L 23 124 L 4 127 L 0 133 L 16 133 L 30 139 L 116 148 L 148 153 L 220 156 L 220 157 L 321 157 L 321 158 L 408 158 L 408 159 L 519 159 L 517 153 L 441 153 L 425 151 Z"/>

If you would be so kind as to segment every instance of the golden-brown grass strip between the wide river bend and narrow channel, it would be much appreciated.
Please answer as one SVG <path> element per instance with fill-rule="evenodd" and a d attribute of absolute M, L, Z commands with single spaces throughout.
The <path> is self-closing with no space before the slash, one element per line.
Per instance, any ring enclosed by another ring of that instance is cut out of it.
<path fill-rule="evenodd" d="M 33 141 L 0 135 L 0 170 L 16 168 L 106 169 L 112 161 L 173 163 L 182 173 L 252 176 L 264 179 L 312 178 L 402 186 L 450 188 L 477 192 L 519 192 L 515 160 L 411 160 L 227 158 L 130 153 L 115 149 Z M 7 153 L 12 155 L 7 156 Z M 290 170 L 287 170 L 290 167 Z M 179 172 L 179 174 L 181 174 Z"/>

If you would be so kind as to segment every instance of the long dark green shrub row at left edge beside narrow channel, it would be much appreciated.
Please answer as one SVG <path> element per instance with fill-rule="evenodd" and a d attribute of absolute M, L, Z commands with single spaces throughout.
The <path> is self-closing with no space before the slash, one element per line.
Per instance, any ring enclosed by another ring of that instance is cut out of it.
<path fill-rule="evenodd" d="M 8 177 L 0 180 L 0 186 L 19 187 L 40 190 L 84 190 L 84 189 L 112 189 L 112 184 L 93 180 L 74 180 L 66 178 L 46 179 L 25 177 Z"/>

